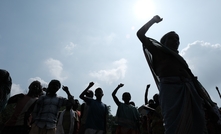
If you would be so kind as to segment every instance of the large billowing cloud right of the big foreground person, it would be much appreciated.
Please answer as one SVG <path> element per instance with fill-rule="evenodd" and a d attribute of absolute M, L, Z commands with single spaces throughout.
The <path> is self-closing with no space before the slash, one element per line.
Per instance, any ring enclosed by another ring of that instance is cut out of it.
<path fill-rule="evenodd" d="M 189 64 L 194 75 L 198 76 L 200 82 L 215 89 L 221 85 L 221 45 L 211 44 L 204 41 L 195 41 L 188 44 L 181 51 L 181 55 Z"/>

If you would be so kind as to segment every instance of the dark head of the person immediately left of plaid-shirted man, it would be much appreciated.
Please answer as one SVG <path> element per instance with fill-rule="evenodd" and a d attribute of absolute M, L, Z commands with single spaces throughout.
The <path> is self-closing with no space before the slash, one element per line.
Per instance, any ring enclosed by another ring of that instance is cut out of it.
<path fill-rule="evenodd" d="M 28 95 L 32 96 L 32 97 L 38 97 L 38 96 L 42 95 L 42 93 L 43 93 L 41 83 L 37 80 L 33 81 L 29 85 L 28 89 L 29 89 Z"/>

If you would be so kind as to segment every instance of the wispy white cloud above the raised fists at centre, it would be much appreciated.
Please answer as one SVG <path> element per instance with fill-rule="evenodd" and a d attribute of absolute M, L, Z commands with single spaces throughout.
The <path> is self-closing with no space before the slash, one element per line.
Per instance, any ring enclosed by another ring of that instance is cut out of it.
<path fill-rule="evenodd" d="M 112 83 L 113 81 L 123 79 L 127 70 L 127 60 L 120 59 L 111 64 L 112 69 L 99 70 L 90 73 L 90 76 L 95 77 L 101 81 Z"/>

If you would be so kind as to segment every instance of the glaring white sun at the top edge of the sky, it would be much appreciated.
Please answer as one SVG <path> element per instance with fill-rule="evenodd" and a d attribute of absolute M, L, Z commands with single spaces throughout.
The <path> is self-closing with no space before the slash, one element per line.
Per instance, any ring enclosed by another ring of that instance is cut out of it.
<path fill-rule="evenodd" d="M 152 0 L 139 0 L 134 5 L 134 13 L 138 19 L 147 20 L 154 16 L 154 4 Z"/>

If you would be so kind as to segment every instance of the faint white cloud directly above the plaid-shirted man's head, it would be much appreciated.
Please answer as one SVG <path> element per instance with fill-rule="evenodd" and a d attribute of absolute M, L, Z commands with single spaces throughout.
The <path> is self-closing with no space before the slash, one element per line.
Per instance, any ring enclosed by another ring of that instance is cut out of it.
<path fill-rule="evenodd" d="M 45 64 L 49 68 L 50 74 L 55 77 L 55 79 L 61 82 L 67 79 L 67 76 L 64 76 L 63 64 L 59 60 L 50 58 L 45 61 Z"/>

